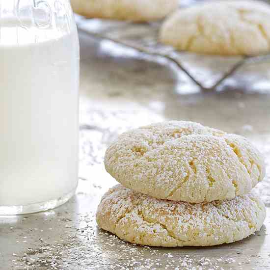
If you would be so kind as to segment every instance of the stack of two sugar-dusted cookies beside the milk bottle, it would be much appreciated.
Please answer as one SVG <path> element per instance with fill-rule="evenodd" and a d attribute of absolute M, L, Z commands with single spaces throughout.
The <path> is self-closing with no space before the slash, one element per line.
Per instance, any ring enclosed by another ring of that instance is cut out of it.
<path fill-rule="evenodd" d="M 251 191 L 264 177 L 264 161 L 239 135 L 157 123 L 120 135 L 105 166 L 122 185 L 103 196 L 97 223 L 131 243 L 231 243 L 258 231 L 266 216 Z"/>

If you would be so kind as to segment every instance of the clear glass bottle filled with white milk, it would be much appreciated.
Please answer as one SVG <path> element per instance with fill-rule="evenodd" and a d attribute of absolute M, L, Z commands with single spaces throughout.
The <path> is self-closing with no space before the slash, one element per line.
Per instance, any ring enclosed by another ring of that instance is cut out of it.
<path fill-rule="evenodd" d="M 69 0 L 0 0 L 0 215 L 78 184 L 79 42 Z"/>

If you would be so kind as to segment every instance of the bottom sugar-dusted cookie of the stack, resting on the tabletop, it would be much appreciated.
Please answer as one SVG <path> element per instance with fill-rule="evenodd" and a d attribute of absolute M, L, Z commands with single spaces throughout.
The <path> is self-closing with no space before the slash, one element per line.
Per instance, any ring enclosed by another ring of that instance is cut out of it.
<path fill-rule="evenodd" d="M 96 220 L 120 239 L 152 246 L 232 243 L 260 230 L 266 216 L 250 192 L 233 200 L 191 204 L 152 198 L 117 185 L 103 196 Z"/>

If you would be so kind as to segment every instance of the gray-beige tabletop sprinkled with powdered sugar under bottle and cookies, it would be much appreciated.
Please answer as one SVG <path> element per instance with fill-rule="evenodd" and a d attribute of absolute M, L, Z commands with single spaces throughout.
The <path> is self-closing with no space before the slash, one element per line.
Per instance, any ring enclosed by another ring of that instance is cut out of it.
<path fill-rule="evenodd" d="M 80 40 L 77 194 L 48 212 L 0 217 L 0 269 L 270 269 L 270 94 L 236 89 L 183 94 L 181 76 L 166 61 L 83 33 Z M 97 228 L 97 204 L 116 183 L 102 163 L 109 141 L 132 127 L 164 119 L 245 135 L 263 152 L 267 176 L 257 190 L 267 218 L 259 232 L 213 247 L 150 248 L 124 243 Z"/>

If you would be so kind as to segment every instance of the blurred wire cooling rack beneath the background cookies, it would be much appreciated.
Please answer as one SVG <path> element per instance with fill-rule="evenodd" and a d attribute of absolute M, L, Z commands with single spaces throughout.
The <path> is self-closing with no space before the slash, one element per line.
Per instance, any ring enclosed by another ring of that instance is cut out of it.
<path fill-rule="evenodd" d="M 92 37 L 134 49 L 141 54 L 162 57 L 172 62 L 203 90 L 215 90 L 246 65 L 269 63 L 270 54 L 222 57 L 179 52 L 159 40 L 161 23 L 135 24 L 76 16 L 78 29 Z M 202 72 L 202 70 L 204 70 Z M 269 79 L 269 78 L 268 78 Z"/>

